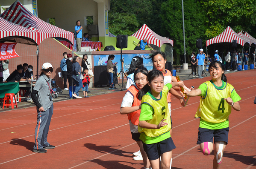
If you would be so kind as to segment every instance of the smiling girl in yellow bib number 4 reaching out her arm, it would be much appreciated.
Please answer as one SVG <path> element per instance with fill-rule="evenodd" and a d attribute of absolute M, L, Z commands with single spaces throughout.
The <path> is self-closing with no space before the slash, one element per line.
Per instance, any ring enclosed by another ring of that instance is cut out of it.
<path fill-rule="evenodd" d="M 241 97 L 234 87 L 227 83 L 224 65 L 214 60 L 209 65 L 211 80 L 202 83 L 198 89 L 185 91 L 188 97 L 200 96 L 195 118 L 200 118 L 197 144 L 200 144 L 203 155 L 210 155 L 213 150 L 213 169 L 221 165 L 223 152 L 227 145 L 229 133 L 229 115 L 231 110 L 240 111 L 238 103 Z"/>

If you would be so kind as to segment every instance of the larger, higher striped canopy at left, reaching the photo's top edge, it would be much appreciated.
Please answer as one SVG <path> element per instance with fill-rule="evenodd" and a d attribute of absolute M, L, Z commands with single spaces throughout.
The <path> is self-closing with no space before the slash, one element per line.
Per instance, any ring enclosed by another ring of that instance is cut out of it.
<path fill-rule="evenodd" d="M 48 37 L 58 37 L 66 40 L 69 43 L 74 43 L 74 34 L 64 29 L 60 29 L 57 26 L 53 26 L 50 23 L 44 22 L 29 10 L 27 10 L 19 0 L 16 0 L 6 11 L 0 14 L 5 20 L 8 20 L 24 28 L 31 29 L 37 32 L 35 42 L 39 45 L 44 39 Z"/>

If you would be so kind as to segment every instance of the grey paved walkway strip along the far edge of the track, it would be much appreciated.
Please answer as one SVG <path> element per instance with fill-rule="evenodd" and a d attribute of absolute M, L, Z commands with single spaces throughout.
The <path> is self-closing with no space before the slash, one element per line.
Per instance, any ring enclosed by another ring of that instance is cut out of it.
<path fill-rule="evenodd" d="M 204 78 L 206 80 L 209 80 L 209 72 L 207 72 L 207 71 L 205 71 L 205 72 L 206 72 L 206 75 L 208 77 L 204 76 Z M 225 73 L 232 73 L 232 72 L 233 71 L 225 72 Z M 191 72 L 189 72 L 189 73 L 179 73 L 179 72 L 177 72 L 176 75 L 179 76 L 180 80 L 190 80 L 190 79 L 192 79 L 192 75 L 190 75 L 190 74 L 191 74 Z M 197 77 L 193 77 L 193 78 L 197 78 Z M 103 94 L 106 94 L 106 93 L 120 92 L 121 89 L 125 90 L 124 88 L 121 88 L 118 85 L 116 85 L 116 87 L 118 88 L 118 90 L 108 90 L 109 88 L 106 87 L 106 86 L 105 87 L 89 88 L 89 91 L 91 93 L 88 93 L 88 96 L 92 97 L 94 95 L 103 95 Z M 83 96 L 82 90 L 79 91 L 79 96 Z M 69 92 L 67 90 L 63 90 L 63 92 L 60 95 L 58 95 L 57 98 L 53 99 L 53 102 L 59 102 L 59 101 L 68 100 L 68 99 L 70 99 L 69 98 Z M 86 99 L 86 98 L 82 98 L 82 99 Z M 26 109 L 27 107 L 31 107 L 31 106 L 35 106 L 35 104 L 33 102 L 32 103 L 30 103 L 30 102 L 19 102 L 18 103 L 18 108 L 15 107 L 15 109 Z M 4 112 L 4 111 L 8 111 L 8 110 L 12 110 L 10 106 L 9 106 L 9 108 L 5 107 L 4 109 L 3 109 L 3 106 L 0 106 L 0 112 Z"/>

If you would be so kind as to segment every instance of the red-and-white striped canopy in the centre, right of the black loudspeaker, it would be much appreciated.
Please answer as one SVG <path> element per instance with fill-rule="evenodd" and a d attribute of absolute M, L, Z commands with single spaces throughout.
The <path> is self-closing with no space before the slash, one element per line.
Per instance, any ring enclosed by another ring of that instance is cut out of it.
<path fill-rule="evenodd" d="M 144 24 L 137 32 L 131 36 L 136 37 L 138 40 L 144 40 L 147 38 L 147 43 L 161 47 L 164 43 L 170 43 L 171 46 L 174 46 L 174 41 L 162 37 L 155 32 L 153 32 L 146 24 Z"/>

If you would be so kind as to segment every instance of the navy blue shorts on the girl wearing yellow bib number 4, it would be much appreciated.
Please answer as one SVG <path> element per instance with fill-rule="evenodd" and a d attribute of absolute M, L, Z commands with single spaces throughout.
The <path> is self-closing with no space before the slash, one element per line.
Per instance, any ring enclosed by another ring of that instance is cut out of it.
<path fill-rule="evenodd" d="M 213 137 L 214 137 L 214 143 L 216 141 L 225 141 L 227 143 L 229 130 L 230 130 L 229 127 L 224 129 L 216 129 L 216 130 L 204 129 L 199 127 L 197 144 L 200 144 L 203 142 L 213 143 Z"/>

